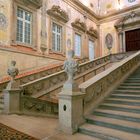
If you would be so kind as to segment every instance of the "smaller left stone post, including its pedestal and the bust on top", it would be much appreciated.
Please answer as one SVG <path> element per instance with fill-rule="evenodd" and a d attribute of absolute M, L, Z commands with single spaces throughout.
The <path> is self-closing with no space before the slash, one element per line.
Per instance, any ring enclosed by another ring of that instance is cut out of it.
<path fill-rule="evenodd" d="M 4 93 L 4 113 L 20 113 L 20 93 L 18 83 L 15 81 L 15 77 L 18 75 L 19 71 L 15 67 L 16 61 L 11 61 L 11 65 L 8 68 L 8 75 L 11 77 L 10 82 L 8 83 Z"/>

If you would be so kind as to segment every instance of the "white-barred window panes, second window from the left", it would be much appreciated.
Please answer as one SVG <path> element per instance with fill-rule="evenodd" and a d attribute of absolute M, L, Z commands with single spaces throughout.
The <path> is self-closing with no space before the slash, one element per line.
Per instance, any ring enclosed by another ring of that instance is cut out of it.
<path fill-rule="evenodd" d="M 53 23 L 52 25 L 52 49 L 62 51 L 62 26 Z"/>

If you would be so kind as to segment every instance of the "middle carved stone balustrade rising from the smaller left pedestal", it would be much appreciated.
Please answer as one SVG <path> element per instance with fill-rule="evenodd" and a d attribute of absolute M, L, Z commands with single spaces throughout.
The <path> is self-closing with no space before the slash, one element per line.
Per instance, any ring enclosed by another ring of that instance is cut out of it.
<path fill-rule="evenodd" d="M 80 64 L 78 72 L 75 75 L 77 82 L 81 83 L 79 82 L 80 78 L 81 77 L 83 78 L 83 75 L 85 74 L 93 72 L 94 75 L 96 75 L 96 71 L 97 69 L 100 68 L 100 65 L 101 68 L 104 69 L 104 67 L 109 63 L 110 63 L 110 55 Z M 21 87 L 22 89 L 24 89 L 25 95 L 32 95 L 33 97 L 41 97 L 47 93 L 50 93 L 51 91 L 55 91 L 57 93 L 60 92 L 61 87 L 63 86 L 66 79 L 67 75 L 64 72 L 64 70 L 62 70 L 60 72 L 21 85 Z M 87 79 L 89 78 L 86 78 L 86 80 Z"/>

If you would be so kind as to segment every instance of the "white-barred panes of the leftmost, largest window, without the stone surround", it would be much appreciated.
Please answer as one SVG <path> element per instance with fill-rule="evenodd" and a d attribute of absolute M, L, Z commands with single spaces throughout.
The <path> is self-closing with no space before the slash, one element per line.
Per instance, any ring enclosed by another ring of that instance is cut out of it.
<path fill-rule="evenodd" d="M 17 9 L 17 41 L 31 44 L 32 14 L 21 8 Z"/>

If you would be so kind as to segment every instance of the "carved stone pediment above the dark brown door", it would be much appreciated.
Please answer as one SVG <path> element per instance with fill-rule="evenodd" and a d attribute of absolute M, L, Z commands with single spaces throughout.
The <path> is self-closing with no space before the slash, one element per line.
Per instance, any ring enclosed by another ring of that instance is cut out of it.
<path fill-rule="evenodd" d="M 116 22 L 115 28 L 117 30 L 124 30 L 127 27 L 132 27 L 140 24 L 140 13 L 132 11 L 130 14 L 121 18 Z"/>

